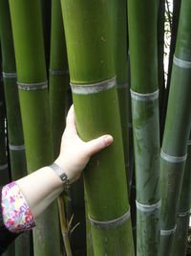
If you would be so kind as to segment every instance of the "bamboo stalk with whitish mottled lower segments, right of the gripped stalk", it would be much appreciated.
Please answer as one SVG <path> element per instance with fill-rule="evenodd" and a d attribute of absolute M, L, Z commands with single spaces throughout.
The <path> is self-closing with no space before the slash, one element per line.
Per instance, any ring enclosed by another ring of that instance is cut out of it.
<path fill-rule="evenodd" d="M 158 3 L 128 1 L 137 255 L 159 255 Z"/>

